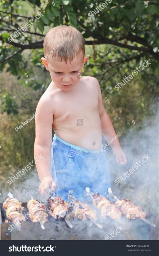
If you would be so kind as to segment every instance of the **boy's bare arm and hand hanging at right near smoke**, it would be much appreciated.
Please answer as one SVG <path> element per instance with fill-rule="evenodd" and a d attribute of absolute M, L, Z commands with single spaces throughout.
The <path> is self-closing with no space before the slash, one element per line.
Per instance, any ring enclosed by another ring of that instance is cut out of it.
<path fill-rule="evenodd" d="M 98 81 L 97 81 L 97 84 L 98 84 L 98 91 L 99 91 L 99 115 L 100 115 L 101 124 L 102 124 L 102 135 L 107 140 L 107 142 L 110 142 L 114 137 L 117 137 L 117 136 L 116 136 L 114 127 L 112 125 L 112 122 L 110 120 L 110 117 L 105 111 L 105 108 L 103 106 L 102 94 L 101 94 L 101 89 Z M 122 148 L 120 147 L 118 139 L 116 138 L 115 140 L 113 140 L 110 145 L 112 147 L 113 154 L 116 156 L 116 161 L 122 165 L 126 164 L 127 162 L 126 155 L 123 152 Z"/>

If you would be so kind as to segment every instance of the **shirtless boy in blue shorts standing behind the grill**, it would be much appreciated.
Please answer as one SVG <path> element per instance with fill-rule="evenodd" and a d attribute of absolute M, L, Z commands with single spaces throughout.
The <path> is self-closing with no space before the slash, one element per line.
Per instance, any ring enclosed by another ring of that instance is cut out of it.
<path fill-rule="evenodd" d="M 57 195 L 67 200 L 72 189 L 73 196 L 84 201 L 84 190 L 90 187 L 91 192 L 106 196 L 110 172 L 105 153 L 100 150 L 102 135 L 109 142 L 116 133 L 103 106 L 98 81 L 91 76 L 81 77 L 88 60 L 82 34 L 66 25 L 51 29 L 44 39 L 44 56 L 42 62 L 52 82 L 36 109 L 34 156 L 43 157 L 36 164 L 39 193 L 48 196 L 49 189 L 56 188 Z M 117 162 L 125 164 L 118 139 L 111 147 Z M 100 153 L 96 154 L 97 150 Z"/>

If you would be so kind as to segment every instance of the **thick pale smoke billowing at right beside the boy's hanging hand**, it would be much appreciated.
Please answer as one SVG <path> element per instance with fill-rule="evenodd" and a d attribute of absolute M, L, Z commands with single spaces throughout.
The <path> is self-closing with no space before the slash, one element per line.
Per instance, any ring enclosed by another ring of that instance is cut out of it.
<path fill-rule="evenodd" d="M 127 164 L 120 166 L 110 150 L 107 158 L 111 171 L 112 192 L 119 199 L 127 198 L 136 205 L 142 206 L 147 212 L 154 215 L 158 211 L 158 114 L 155 112 L 142 127 L 142 130 L 128 130 L 122 139 L 122 148 L 126 154 Z M 126 177 L 118 185 L 114 182 L 117 177 L 131 169 L 136 161 L 142 160 L 144 155 L 151 159 L 138 167 L 135 172 Z"/>

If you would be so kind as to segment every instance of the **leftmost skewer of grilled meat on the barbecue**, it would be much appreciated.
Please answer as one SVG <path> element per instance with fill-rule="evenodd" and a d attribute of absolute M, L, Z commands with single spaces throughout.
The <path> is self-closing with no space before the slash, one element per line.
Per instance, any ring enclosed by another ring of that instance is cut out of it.
<path fill-rule="evenodd" d="M 6 211 L 7 217 L 5 222 L 13 222 L 19 224 L 19 221 L 26 220 L 25 216 L 22 214 L 24 207 L 21 205 L 22 203 L 20 203 L 16 198 L 6 198 L 5 202 L 3 203 L 3 209 Z"/>

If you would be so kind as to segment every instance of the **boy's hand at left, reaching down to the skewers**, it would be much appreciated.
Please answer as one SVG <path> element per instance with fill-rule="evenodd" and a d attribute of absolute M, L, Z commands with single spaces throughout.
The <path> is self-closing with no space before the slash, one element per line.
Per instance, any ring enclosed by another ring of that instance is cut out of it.
<path fill-rule="evenodd" d="M 55 190 L 56 184 L 54 183 L 54 180 L 50 176 L 46 176 L 42 179 L 40 185 L 39 185 L 39 193 L 42 196 L 48 196 L 49 189 Z"/>

